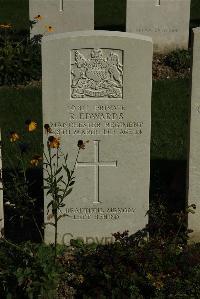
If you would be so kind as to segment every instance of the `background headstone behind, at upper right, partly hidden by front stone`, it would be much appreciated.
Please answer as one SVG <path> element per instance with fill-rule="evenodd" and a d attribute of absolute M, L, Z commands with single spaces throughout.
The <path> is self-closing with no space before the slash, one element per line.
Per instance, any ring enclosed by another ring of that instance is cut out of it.
<path fill-rule="evenodd" d="M 127 0 L 126 31 L 149 35 L 155 52 L 187 49 L 191 0 Z"/>

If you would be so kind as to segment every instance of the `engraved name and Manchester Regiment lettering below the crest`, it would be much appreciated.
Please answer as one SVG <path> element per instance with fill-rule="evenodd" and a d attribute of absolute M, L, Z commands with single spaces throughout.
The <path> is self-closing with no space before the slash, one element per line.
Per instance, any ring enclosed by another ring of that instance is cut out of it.
<path fill-rule="evenodd" d="M 66 121 L 50 122 L 52 132 L 64 135 L 140 136 L 144 122 L 129 118 L 126 105 L 67 105 Z"/>

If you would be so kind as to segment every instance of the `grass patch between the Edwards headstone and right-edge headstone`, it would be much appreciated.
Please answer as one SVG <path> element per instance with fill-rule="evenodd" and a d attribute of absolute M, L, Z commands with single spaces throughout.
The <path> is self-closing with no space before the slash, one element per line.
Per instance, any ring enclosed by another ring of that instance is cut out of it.
<path fill-rule="evenodd" d="M 154 82 L 151 159 L 187 159 L 189 93 L 189 80 Z"/>

